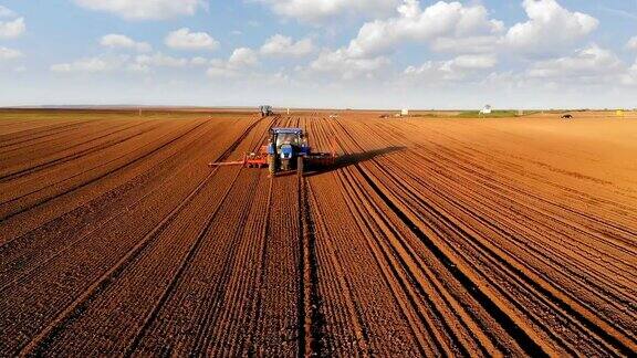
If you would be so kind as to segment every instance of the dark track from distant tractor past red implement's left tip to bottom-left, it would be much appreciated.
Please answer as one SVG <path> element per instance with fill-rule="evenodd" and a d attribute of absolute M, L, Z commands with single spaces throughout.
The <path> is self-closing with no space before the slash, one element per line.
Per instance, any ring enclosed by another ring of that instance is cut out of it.
<path fill-rule="evenodd" d="M 254 122 L 241 134 L 241 136 L 218 158 L 218 160 L 223 160 L 234 151 L 239 144 L 246 138 L 248 133 L 254 128 L 260 120 Z M 197 126 L 198 127 L 198 126 Z M 192 190 L 187 198 L 185 198 L 179 206 L 177 206 L 159 224 L 157 224 L 153 231 L 146 234 L 128 253 L 122 257 L 114 266 L 112 266 L 106 273 L 104 273 L 98 280 L 96 280 L 88 288 L 76 297 L 73 303 L 71 303 L 64 310 L 59 313 L 56 317 L 44 327 L 38 335 L 35 335 L 28 345 L 20 349 L 20 356 L 30 356 L 40 352 L 42 346 L 45 346 L 46 341 L 55 336 L 55 334 L 63 328 L 63 326 L 72 320 L 79 313 L 83 312 L 87 302 L 92 297 L 97 295 L 102 289 L 106 288 L 111 282 L 113 282 L 118 274 L 125 268 L 125 265 L 134 260 L 148 244 L 152 239 L 155 238 L 166 225 L 177 215 L 187 204 L 195 198 L 195 196 L 206 186 L 206 183 L 217 173 L 217 170 L 212 170 L 200 183 Z"/>

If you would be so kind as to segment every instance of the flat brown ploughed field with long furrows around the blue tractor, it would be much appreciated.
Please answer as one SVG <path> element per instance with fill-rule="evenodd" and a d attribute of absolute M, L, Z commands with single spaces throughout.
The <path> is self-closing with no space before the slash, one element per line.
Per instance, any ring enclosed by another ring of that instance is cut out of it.
<path fill-rule="evenodd" d="M 208 167 L 301 127 L 333 167 Z M 637 355 L 637 116 L 0 110 L 0 356 Z"/>

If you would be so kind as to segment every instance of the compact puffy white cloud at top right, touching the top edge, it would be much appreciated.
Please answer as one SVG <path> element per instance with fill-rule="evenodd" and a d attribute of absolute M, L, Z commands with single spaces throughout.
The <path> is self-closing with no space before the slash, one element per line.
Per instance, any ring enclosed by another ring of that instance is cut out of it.
<path fill-rule="evenodd" d="M 572 12 L 555 0 L 524 0 L 529 21 L 516 23 L 507 32 L 504 43 L 520 52 L 555 52 L 592 33 L 599 21 L 588 14 Z"/>

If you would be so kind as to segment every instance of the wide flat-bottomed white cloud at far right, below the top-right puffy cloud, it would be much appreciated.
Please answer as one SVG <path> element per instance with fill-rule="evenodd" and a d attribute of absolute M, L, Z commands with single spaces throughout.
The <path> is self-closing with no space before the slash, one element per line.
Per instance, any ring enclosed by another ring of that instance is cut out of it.
<path fill-rule="evenodd" d="M 540 61 L 528 71 L 533 78 L 604 80 L 626 71 L 613 52 L 595 44 L 578 50 L 572 56 Z"/>

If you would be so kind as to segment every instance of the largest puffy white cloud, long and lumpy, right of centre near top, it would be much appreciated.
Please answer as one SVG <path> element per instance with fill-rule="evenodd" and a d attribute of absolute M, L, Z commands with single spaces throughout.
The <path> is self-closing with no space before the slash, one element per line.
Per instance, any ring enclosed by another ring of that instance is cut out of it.
<path fill-rule="evenodd" d="M 439 1 L 421 9 L 418 0 L 405 0 L 397 12 L 397 17 L 365 23 L 349 42 L 349 54 L 378 54 L 405 41 L 430 43 L 435 50 L 451 50 L 458 44 L 476 50 L 476 45 L 495 43 L 503 30 L 502 22 L 490 20 L 480 4 Z"/>

